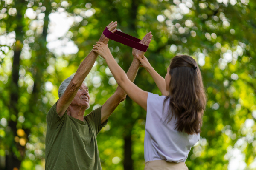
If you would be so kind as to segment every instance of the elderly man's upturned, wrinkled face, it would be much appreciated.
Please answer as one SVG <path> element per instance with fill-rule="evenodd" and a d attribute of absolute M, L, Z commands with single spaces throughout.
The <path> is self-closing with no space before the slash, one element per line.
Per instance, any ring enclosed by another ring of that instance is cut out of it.
<path fill-rule="evenodd" d="M 89 100 L 90 100 L 89 89 L 83 83 L 80 86 L 80 88 L 78 89 L 78 91 L 76 93 L 76 96 L 75 96 L 75 98 L 73 99 L 73 101 L 71 102 L 70 105 L 88 108 L 89 107 Z"/>

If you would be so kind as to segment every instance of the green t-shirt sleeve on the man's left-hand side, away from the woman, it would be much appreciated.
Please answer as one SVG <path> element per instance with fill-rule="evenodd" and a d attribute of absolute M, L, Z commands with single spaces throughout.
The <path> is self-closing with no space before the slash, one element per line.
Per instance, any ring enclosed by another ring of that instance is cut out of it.
<path fill-rule="evenodd" d="M 62 127 L 62 125 L 64 123 L 64 120 L 67 119 L 67 111 L 65 111 L 63 116 L 61 116 L 61 117 L 58 116 L 58 113 L 56 111 L 57 102 L 50 108 L 50 110 L 49 110 L 49 112 L 47 113 L 47 116 L 46 116 L 47 126 L 51 130 L 55 130 L 59 127 Z"/>

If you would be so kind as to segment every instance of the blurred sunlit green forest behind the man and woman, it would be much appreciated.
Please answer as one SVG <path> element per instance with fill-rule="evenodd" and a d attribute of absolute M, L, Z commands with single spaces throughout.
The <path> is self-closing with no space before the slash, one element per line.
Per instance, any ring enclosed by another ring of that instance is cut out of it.
<path fill-rule="evenodd" d="M 46 114 L 60 83 L 76 72 L 111 21 L 153 39 L 145 56 L 164 77 L 170 59 L 198 62 L 208 94 L 200 141 L 189 170 L 256 169 L 256 1 L 254 0 L 0 0 L 0 170 L 44 170 Z M 128 71 L 132 49 L 112 40 Z M 140 68 L 134 81 L 161 95 Z M 86 77 L 90 108 L 117 84 L 102 57 Z M 97 137 L 102 170 L 142 170 L 146 112 L 129 97 Z"/>

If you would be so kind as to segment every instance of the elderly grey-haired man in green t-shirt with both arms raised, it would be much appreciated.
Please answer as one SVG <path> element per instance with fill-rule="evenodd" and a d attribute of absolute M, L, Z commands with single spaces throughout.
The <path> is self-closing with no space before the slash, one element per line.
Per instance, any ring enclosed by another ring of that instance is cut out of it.
<path fill-rule="evenodd" d="M 116 26 L 117 22 L 111 22 L 107 27 L 109 31 L 115 32 Z M 149 45 L 151 37 L 149 32 L 140 43 Z M 99 39 L 105 44 L 108 40 L 104 34 Z M 131 81 L 134 81 L 140 66 L 136 54 L 143 57 L 144 52 L 133 49 L 134 60 L 127 72 Z M 47 113 L 46 170 L 101 170 L 96 136 L 126 94 L 118 86 L 104 105 L 84 116 L 90 96 L 83 81 L 97 56 L 96 52 L 91 51 L 76 74 L 61 83 L 59 99 Z"/>

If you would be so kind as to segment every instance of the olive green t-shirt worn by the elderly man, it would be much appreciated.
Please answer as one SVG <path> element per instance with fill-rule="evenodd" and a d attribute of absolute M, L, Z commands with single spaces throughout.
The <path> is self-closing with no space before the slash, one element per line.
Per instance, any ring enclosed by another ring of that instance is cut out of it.
<path fill-rule="evenodd" d="M 57 101 L 58 102 L 58 101 Z M 107 125 L 101 124 L 99 107 L 84 116 L 84 121 L 56 112 L 57 102 L 46 116 L 46 170 L 101 170 L 97 134 Z"/>

